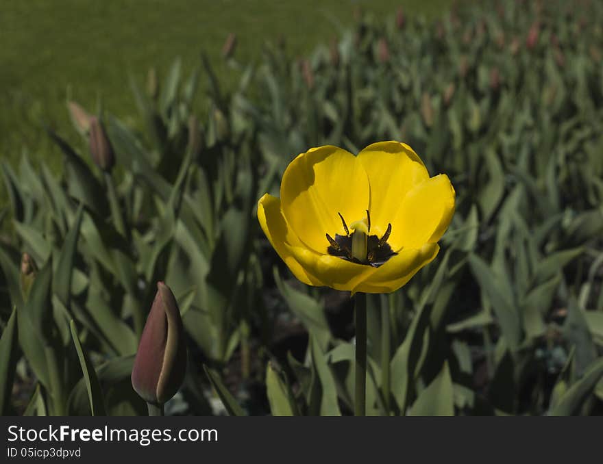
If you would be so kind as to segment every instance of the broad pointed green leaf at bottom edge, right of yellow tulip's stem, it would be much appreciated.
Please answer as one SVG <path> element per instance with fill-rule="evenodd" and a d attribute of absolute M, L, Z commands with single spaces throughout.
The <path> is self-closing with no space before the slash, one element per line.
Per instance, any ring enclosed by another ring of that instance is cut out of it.
<path fill-rule="evenodd" d="M 432 383 L 421 391 L 408 415 L 454 415 L 454 388 L 447 362 Z"/>

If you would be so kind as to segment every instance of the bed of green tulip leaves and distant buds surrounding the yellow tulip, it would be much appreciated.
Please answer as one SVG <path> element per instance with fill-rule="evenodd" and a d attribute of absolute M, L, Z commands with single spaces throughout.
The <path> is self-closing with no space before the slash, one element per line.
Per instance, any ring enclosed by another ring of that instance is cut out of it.
<path fill-rule="evenodd" d="M 402 140 L 457 209 L 430 266 L 369 296 L 367 412 L 600 414 L 602 20 L 597 1 L 358 11 L 302 58 L 286 33 L 256 60 L 231 38 L 219 66 L 135 70 L 131 100 L 71 95 L 79 135 L 44 129 L 62 169 L 1 163 L 2 412 L 144 413 L 132 355 L 161 280 L 190 354 L 167 413 L 351 413 L 352 300 L 293 279 L 256 201 L 311 146 Z"/>

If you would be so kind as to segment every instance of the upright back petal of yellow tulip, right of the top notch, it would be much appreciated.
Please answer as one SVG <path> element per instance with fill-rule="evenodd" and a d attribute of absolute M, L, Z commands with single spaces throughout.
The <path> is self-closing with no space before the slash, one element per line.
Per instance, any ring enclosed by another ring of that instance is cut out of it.
<path fill-rule="evenodd" d="M 382 235 L 393 222 L 402 198 L 429 179 L 429 173 L 417 153 L 400 142 L 369 145 L 358 159 L 369 177 L 371 232 Z"/>

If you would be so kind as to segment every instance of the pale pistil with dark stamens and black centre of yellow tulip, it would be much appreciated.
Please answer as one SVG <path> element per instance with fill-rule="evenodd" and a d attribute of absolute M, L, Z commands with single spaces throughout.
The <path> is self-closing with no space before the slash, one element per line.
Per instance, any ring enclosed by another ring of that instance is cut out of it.
<path fill-rule="evenodd" d="M 335 234 L 335 238 L 326 234 L 329 246 L 327 253 L 332 256 L 340 257 L 346 261 L 353 263 L 366 264 L 378 268 L 392 256 L 397 255 L 391 246 L 387 243 L 391 234 L 391 224 L 387 224 L 387 229 L 382 237 L 370 235 L 371 232 L 371 215 L 367 210 L 367 218 L 352 222 L 347 227 L 341 213 L 339 217 L 343 223 L 345 235 Z M 352 229 L 352 233 L 350 233 Z"/>

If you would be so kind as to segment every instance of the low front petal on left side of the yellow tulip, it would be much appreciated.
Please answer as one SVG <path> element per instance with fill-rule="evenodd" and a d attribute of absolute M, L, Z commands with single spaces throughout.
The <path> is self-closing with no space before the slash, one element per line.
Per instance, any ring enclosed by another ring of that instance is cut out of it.
<path fill-rule="evenodd" d="M 352 263 L 339 257 L 320 255 L 306 247 L 292 246 L 291 253 L 308 275 L 336 290 L 353 292 L 360 282 L 377 271 L 377 268 Z"/>

